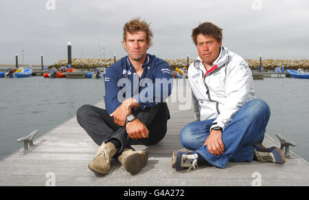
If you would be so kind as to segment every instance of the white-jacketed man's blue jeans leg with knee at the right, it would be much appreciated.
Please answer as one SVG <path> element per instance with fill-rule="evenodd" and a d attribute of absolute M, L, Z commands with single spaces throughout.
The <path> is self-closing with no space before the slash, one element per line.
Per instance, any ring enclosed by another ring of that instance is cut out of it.
<path fill-rule="evenodd" d="M 259 99 L 250 100 L 240 108 L 223 131 L 225 151 L 222 155 L 211 155 L 207 146 L 199 148 L 196 153 L 219 168 L 225 168 L 230 159 L 237 162 L 252 161 L 253 144 L 262 142 L 269 116 L 270 109 L 266 102 Z"/>

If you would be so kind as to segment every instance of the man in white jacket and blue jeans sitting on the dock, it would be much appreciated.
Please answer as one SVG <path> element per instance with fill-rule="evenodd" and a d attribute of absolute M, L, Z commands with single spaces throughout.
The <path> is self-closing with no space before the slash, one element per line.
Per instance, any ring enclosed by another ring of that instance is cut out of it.
<path fill-rule="evenodd" d="M 270 109 L 254 96 L 248 63 L 222 46 L 222 29 L 202 23 L 192 31 L 198 58 L 187 76 L 196 122 L 181 130 L 181 144 L 192 151 L 174 151 L 172 168 L 196 168 L 209 163 L 225 168 L 229 161 L 285 162 L 277 147 L 265 148 Z"/>

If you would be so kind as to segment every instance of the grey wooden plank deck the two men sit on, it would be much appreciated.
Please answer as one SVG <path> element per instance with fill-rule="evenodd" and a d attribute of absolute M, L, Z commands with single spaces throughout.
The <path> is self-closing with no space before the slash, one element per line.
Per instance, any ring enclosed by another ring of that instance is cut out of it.
<path fill-rule="evenodd" d="M 99 107 L 104 107 L 101 103 Z M 0 186 L 45 186 L 49 174 L 56 186 L 251 186 L 261 178 L 262 186 L 309 186 L 309 166 L 303 159 L 286 159 L 286 163 L 244 162 L 227 164 L 227 168 L 198 166 L 198 170 L 176 171 L 171 168 L 172 151 L 182 148 L 179 131 L 193 121 L 193 111 L 180 111 L 177 104 L 169 104 L 171 120 L 165 138 L 152 146 L 133 146 L 149 151 L 148 164 L 137 175 L 122 170 L 113 159 L 111 170 L 104 177 L 96 177 L 87 165 L 98 146 L 82 129 L 76 117 L 60 124 L 35 140 L 32 152 L 19 151 L 0 162 Z M 265 146 L 279 146 L 266 135 Z M 260 176 L 256 176 L 256 174 Z"/>

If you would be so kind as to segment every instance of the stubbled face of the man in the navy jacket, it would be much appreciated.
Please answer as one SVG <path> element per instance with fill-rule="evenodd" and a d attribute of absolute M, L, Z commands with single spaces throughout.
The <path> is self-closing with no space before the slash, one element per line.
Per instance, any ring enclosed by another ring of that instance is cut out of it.
<path fill-rule="evenodd" d="M 128 53 L 130 59 L 139 61 L 146 56 L 149 44 L 146 40 L 146 32 L 138 31 L 134 34 L 126 33 L 126 41 L 124 41 L 124 49 Z"/>

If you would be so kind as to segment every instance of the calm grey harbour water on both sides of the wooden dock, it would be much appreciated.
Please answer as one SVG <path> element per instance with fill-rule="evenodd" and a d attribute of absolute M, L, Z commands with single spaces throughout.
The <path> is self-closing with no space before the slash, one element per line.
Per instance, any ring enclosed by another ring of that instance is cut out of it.
<path fill-rule="evenodd" d="M 308 161 L 309 80 L 265 78 L 254 84 L 256 96 L 271 107 L 266 133 L 295 142 L 292 151 Z M 103 94 L 102 79 L 0 78 L 0 159 L 23 147 L 19 137 L 50 131 Z"/>

